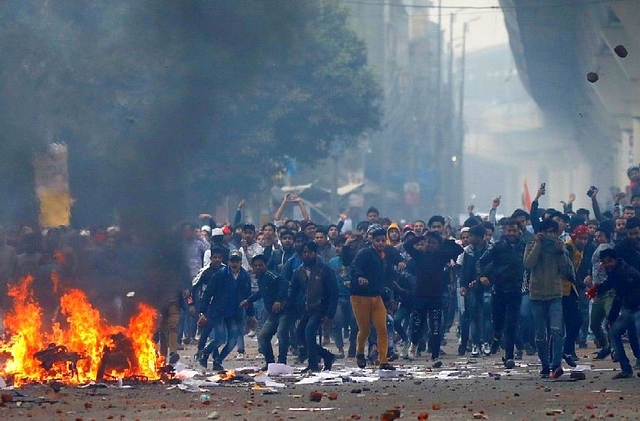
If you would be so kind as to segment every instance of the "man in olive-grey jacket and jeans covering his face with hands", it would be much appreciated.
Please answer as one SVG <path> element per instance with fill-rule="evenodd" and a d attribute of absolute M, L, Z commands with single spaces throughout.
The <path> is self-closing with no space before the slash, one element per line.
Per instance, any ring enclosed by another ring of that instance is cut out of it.
<path fill-rule="evenodd" d="M 527 244 L 524 267 L 531 271 L 529 298 L 543 378 L 564 374 L 562 352 L 564 324 L 562 320 L 562 281 L 574 279 L 573 264 L 562 240 L 558 223 L 545 219 L 539 225 L 535 241 Z M 552 341 L 549 361 L 549 341 Z"/>

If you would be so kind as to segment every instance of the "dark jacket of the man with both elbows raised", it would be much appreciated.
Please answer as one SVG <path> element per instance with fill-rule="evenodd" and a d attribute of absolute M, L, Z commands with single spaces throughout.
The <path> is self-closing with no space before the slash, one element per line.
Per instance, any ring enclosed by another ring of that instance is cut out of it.
<path fill-rule="evenodd" d="M 416 265 L 416 296 L 440 297 L 447 283 L 444 267 L 451 259 L 456 259 L 464 250 L 455 241 L 445 240 L 437 250 L 420 251 L 414 247 L 424 237 L 414 237 L 404 247 Z"/>

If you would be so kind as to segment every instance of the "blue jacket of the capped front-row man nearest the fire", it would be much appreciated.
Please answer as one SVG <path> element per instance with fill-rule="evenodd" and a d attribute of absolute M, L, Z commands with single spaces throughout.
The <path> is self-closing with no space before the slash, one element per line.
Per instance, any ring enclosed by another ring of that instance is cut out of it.
<path fill-rule="evenodd" d="M 207 319 L 219 317 L 242 317 L 244 309 L 240 302 L 251 294 L 251 278 L 249 273 L 240 269 L 238 277 L 233 278 L 230 267 L 217 271 L 200 302 L 199 312 Z"/>

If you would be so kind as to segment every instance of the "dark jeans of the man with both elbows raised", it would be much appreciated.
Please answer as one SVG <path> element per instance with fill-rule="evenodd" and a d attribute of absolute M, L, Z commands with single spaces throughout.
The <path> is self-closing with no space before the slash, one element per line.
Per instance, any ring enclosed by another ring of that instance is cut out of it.
<path fill-rule="evenodd" d="M 440 344 L 442 343 L 442 298 L 441 297 L 417 297 L 413 308 L 413 325 L 411 330 L 411 343 L 417 345 L 424 332 L 425 324 L 429 324 L 429 349 L 431 359 L 440 356 Z"/>

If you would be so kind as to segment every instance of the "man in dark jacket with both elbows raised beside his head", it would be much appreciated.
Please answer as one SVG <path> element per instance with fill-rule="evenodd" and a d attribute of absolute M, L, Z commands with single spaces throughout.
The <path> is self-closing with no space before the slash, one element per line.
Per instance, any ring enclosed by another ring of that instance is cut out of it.
<path fill-rule="evenodd" d="M 414 237 L 405 243 L 404 248 L 416 265 L 416 291 L 411 332 L 411 356 L 415 355 L 424 325 L 429 323 L 429 349 L 434 368 L 442 367 L 439 360 L 442 342 L 442 295 L 447 284 L 443 277 L 444 267 L 464 250 L 455 241 L 442 240 L 436 231 L 426 236 Z"/>

